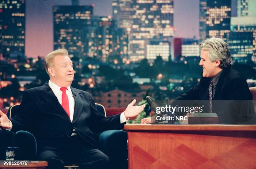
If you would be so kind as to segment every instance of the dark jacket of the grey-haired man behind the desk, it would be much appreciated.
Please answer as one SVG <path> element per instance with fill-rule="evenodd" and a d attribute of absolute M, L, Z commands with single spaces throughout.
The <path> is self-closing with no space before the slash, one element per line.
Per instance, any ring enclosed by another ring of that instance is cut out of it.
<path fill-rule="evenodd" d="M 176 100 L 209 100 L 210 80 L 211 78 L 201 77 L 195 87 L 177 97 Z M 224 68 L 221 72 L 212 100 L 213 112 L 218 114 L 223 123 L 246 122 L 254 116 L 252 94 L 247 82 L 231 66 Z M 176 102 L 174 101 L 172 104 L 176 104 Z M 205 109 L 207 108 L 205 107 Z"/>

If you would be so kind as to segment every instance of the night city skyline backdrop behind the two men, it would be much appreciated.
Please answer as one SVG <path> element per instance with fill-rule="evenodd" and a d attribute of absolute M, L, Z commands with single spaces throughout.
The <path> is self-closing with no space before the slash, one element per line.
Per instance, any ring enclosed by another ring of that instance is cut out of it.
<path fill-rule="evenodd" d="M 199 42 L 210 37 L 228 43 L 234 69 L 253 87 L 255 8 L 255 0 L 2 0 L 0 108 L 49 80 L 44 57 L 60 48 L 74 63 L 72 86 L 106 107 L 149 89 L 155 99 L 174 99 L 196 85 Z"/>

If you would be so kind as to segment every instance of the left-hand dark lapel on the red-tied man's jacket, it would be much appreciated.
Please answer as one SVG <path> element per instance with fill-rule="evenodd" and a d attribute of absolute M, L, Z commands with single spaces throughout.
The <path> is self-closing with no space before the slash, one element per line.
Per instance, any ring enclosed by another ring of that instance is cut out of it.
<path fill-rule="evenodd" d="M 59 104 L 59 101 L 57 97 L 55 96 L 54 92 L 51 90 L 51 88 L 48 85 L 48 82 L 46 82 L 43 86 L 40 88 L 41 96 L 43 99 L 58 113 L 61 114 L 65 119 L 69 120 L 69 116 L 67 115 L 66 111 L 63 109 L 61 104 Z M 70 121 L 71 122 L 71 121 Z"/>

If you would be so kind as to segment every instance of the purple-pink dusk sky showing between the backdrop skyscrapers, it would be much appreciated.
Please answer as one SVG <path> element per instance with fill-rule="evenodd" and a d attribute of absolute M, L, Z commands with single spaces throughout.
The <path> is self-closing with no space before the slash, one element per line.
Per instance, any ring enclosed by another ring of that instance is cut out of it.
<path fill-rule="evenodd" d="M 111 2 L 80 0 L 81 5 L 94 4 L 93 15 L 98 16 L 112 15 Z M 52 5 L 71 5 L 71 0 L 26 0 L 27 57 L 45 57 L 53 50 Z M 175 37 L 199 37 L 199 0 L 174 0 L 174 28 Z"/>

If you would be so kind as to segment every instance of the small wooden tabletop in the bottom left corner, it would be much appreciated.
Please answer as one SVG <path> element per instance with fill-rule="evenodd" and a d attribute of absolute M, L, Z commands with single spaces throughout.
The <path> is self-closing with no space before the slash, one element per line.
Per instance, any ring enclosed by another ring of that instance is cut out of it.
<path fill-rule="evenodd" d="M 16 162 L 14 164 L 17 164 L 19 161 L 0 161 L 0 169 L 46 169 L 48 166 L 45 161 L 27 161 L 27 165 L 4 165 L 3 162 Z"/>

